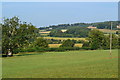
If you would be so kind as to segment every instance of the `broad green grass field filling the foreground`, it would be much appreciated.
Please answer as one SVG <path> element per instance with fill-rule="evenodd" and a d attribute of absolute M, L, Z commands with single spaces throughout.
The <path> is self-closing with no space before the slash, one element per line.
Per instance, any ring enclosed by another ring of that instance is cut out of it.
<path fill-rule="evenodd" d="M 111 56 L 108 50 L 32 54 L 3 58 L 3 78 L 118 77 L 118 50 Z"/>

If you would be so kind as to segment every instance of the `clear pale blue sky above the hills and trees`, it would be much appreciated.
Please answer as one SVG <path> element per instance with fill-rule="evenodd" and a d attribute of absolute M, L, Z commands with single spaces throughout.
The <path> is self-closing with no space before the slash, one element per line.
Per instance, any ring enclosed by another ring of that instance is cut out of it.
<path fill-rule="evenodd" d="M 2 17 L 18 16 L 36 27 L 118 20 L 117 2 L 3 2 Z"/>

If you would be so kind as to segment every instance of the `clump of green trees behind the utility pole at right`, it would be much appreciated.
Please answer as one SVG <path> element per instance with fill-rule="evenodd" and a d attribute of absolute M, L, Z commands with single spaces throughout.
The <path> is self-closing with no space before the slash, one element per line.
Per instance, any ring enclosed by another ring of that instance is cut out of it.
<path fill-rule="evenodd" d="M 112 34 L 112 49 L 118 48 L 118 36 Z M 90 47 L 91 49 L 109 49 L 110 35 L 104 35 L 99 30 L 92 30 L 89 33 L 89 42 L 84 43 L 83 47 Z"/>

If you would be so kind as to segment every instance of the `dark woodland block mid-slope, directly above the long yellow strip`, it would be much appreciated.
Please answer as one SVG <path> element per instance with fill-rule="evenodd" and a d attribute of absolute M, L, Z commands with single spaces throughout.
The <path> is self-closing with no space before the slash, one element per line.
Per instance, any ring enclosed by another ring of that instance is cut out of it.
<path fill-rule="evenodd" d="M 72 27 L 66 32 L 62 32 L 60 29 L 54 29 L 50 32 L 51 37 L 88 37 L 90 29 L 84 27 Z"/>

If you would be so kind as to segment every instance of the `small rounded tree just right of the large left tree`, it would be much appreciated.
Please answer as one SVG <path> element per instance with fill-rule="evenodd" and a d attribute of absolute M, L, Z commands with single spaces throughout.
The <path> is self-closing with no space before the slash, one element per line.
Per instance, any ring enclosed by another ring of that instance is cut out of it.
<path fill-rule="evenodd" d="M 48 48 L 48 43 L 44 38 L 38 38 L 35 40 L 34 46 L 40 48 Z"/>

